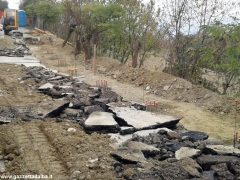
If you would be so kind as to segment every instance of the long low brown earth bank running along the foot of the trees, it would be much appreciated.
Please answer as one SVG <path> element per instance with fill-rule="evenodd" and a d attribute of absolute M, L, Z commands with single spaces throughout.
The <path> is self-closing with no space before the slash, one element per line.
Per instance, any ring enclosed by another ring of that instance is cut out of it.
<path fill-rule="evenodd" d="M 170 100 L 196 103 L 220 114 L 235 112 L 232 99 L 214 93 L 200 85 L 184 79 L 146 69 L 134 69 L 127 65 L 100 61 L 99 72 L 117 81 L 143 87 L 145 93 L 152 93 Z"/>

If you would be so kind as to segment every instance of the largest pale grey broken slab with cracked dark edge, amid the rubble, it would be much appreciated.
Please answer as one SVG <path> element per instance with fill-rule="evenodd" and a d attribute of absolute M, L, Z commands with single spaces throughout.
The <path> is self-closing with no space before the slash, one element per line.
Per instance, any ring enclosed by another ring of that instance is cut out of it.
<path fill-rule="evenodd" d="M 109 109 L 128 126 L 137 130 L 174 127 L 180 121 L 178 117 L 153 114 L 135 108 L 110 106 Z"/>

